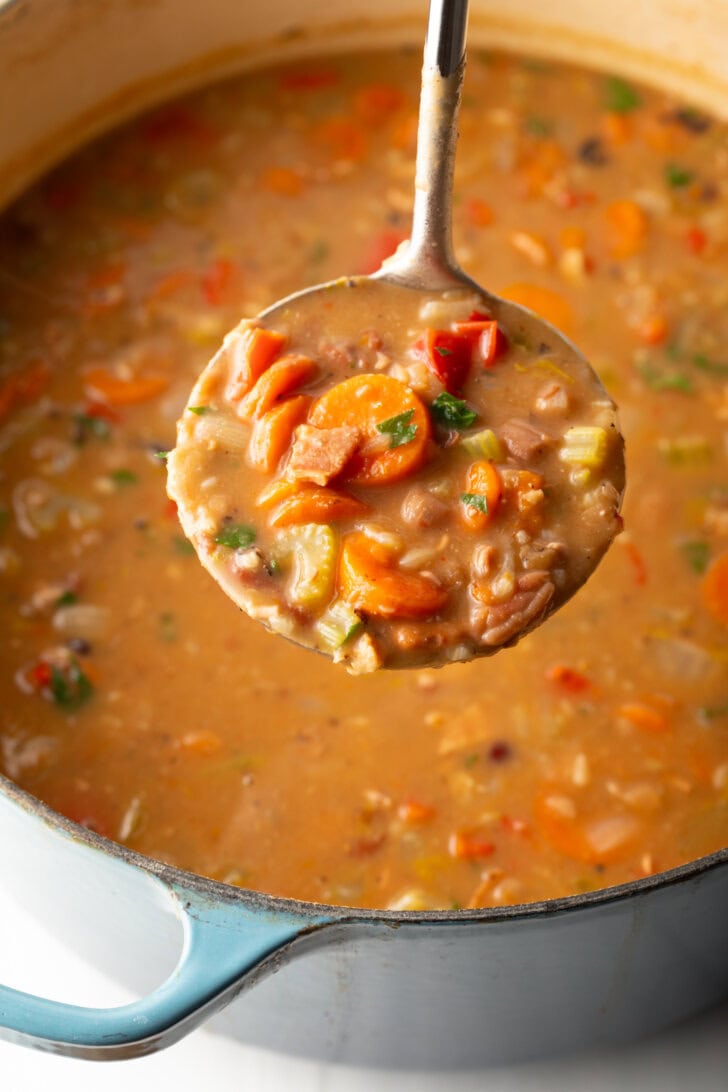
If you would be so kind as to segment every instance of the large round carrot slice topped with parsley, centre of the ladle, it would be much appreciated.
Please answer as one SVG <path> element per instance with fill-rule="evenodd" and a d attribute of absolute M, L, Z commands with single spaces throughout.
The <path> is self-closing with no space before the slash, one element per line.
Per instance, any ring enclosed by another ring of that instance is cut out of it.
<path fill-rule="evenodd" d="M 392 447 L 378 426 L 403 415 L 410 439 Z M 353 376 L 332 387 L 314 403 L 309 420 L 317 428 L 350 425 L 359 429 L 361 444 L 344 477 L 357 485 L 389 485 L 413 474 L 425 461 L 431 431 L 420 399 L 405 383 L 384 375 Z"/>

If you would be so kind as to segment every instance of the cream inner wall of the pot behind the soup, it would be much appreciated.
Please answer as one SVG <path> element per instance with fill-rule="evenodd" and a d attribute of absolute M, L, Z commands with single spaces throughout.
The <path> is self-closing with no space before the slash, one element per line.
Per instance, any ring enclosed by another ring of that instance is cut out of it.
<path fill-rule="evenodd" d="M 728 0 L 474 0 L 470 41 L 661 84 L 728 115 Z M 418 41 L 426 0 L 0 0 L 0 202 L 95 132 L 268 57 Z"/>

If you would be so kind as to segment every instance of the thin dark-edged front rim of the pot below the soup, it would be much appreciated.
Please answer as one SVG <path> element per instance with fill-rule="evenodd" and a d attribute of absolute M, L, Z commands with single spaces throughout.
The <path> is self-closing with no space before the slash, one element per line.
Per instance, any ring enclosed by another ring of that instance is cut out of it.
<path fill-rule="evenodd" d="M 613 887 L 598 888 L 580 894 L 564 895 L 559 899 L 544 899 L 538 902 L 516 903 L 512 906 L 485 906 L 477 910 L 374 910 L 357 906 L 343 906 L 333 903 L 308 902 L 302 899 L 289 899 L 282 895 L 267 894 L 250 888 L 238 888 L 220 880 L 213 880 L 198 873 L 187 871 L 175 865 L 156 860 L 154 857 L 131 850 L 129 846 L 115 842 L 103 834 L 97 834 L 81 823 L 69 819 L 60 811 L 44 804 L 37 796 L 21 788 L 20 785 L 0 773 L 0 795 L 7 796 L 26 815 L 33 816 L 50 831 L 64 835 L 73 842 L 81 843 L 89 850 L 95 850 L 122 864 L 139 869 L 164 883 L 168 889 L 188 889 L 205 895 L 218 903 L 242 903 L 250 910 L 261 913 L 279 912 L 300 917 L 319 917 L 325 912 L 330 924 L 380 923 L 383 925 L 413 925 L 417 923 L 446 923 L 460 925 L 464 923 L 498 923 L 526 921 L 532 917 L 564 916 L 578 911 L 587 911 L 610 903 L 622 902 L 635 897 L 646 895 L 653 891 L 675 887 L 690 880 L 696 880 L 717 868 L 728 868 L 728 845 L 704 857 L 697 857 L 684 865 L 678 865 L 652 876 L 640 877 L 626 883 Z"/>

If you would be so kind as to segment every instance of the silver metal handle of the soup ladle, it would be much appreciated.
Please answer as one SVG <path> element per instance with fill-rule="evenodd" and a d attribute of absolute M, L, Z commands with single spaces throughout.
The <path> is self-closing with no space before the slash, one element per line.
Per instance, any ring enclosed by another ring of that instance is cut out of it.
<path fill-rule="evenodd" d="M 465 70 L 468 0 L 431 0 L 417 130 L 411 238 L 397 273 L 428 287 L 462 276 L 452 242 L 457 114 Z"/>

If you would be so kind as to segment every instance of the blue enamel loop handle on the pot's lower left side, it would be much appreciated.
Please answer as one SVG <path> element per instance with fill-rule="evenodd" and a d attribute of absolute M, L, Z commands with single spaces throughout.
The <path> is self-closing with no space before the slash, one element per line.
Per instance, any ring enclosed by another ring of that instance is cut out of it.
<path fill-rule="evenodd" d="M 169 885 L 183 946 L 169 977 L 139 1001 L 94 1009 L 0 985 L 0 1036 L 70 1057 L 133 1058 L 182 1038 L 240 993 L 252 971 L 325 917 L 213 902 Z"/>

